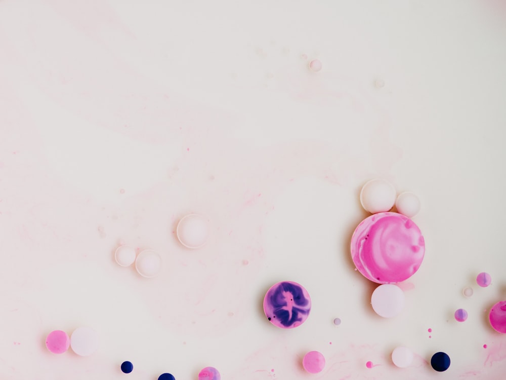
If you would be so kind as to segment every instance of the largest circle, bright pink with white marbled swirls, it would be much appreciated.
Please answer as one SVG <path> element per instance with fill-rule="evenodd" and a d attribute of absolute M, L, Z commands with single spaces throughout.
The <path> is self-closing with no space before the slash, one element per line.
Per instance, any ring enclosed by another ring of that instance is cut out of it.
<path fill-rule="evenodd" d="M 415 274 L 425 255 L 418 226 L 395 212 L 371 215 L 357 226 L 351 256 L 359 272 L 378 284 L 395 284 Z"/>

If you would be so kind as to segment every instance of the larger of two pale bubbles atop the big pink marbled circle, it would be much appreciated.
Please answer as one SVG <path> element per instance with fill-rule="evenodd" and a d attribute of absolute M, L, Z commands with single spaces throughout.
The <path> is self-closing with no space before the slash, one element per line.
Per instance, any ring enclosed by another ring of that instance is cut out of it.
<path fill-rule="evenodd" d="M 395 188 L 384 179 L 371 179 L 360 192 L 362 207 L 371 214 L 390 211 L 395 203 Z"/>

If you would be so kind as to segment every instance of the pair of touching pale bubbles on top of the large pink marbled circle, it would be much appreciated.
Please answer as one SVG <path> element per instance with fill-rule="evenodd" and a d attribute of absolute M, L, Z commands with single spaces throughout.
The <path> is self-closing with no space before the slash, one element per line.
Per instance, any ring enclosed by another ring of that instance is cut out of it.
<path fill-rule="evenodd" d="M 387 212 L 394 207 L 397 212 L 412 218 L 420 211 L 420 200 L 411 192 L 397 196 L 395 187 L 384 179 L 371 179 L 362 186 L 360 192 L 362 207 L 371 214 Z"/>

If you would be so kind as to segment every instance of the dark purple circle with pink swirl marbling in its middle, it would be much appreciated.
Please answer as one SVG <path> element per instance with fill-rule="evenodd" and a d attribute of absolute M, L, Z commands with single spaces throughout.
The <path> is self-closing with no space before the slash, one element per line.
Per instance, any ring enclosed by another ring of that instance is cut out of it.
<path fill-rule="evenodd" d="M 297 282 L 282 281 L 271 286 L 264 297 L 264 313 L 277 327 L 294 328 L 303 324 L 311 311 L 311 297 Z"/>

